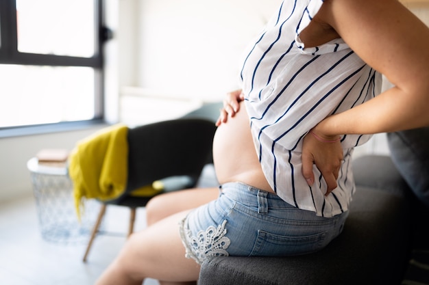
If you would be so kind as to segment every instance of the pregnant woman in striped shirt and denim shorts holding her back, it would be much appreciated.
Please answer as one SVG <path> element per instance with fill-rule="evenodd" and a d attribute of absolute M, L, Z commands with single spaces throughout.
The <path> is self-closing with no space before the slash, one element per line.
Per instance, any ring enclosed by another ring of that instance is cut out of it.
<path fill-rule="evenodd" d="M 198 207 L 133 234 L 97 284 L 195 284 L 208 256 L 325 247 L 347 219 L 353 148 L 429 125 L 427 46 L 428 27 L 396 0 L 284 1 L 245 52 L 243 96 L 221 111 L 217 197 L 175 194 L 175 210 Z M 381 94 L 380 73 L 394 85 Z"/>

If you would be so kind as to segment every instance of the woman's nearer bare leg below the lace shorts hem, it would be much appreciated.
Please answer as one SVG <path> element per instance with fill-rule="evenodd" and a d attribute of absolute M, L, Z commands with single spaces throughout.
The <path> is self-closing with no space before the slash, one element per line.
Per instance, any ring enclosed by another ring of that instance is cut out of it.
<path fill-rule="evenodd" d="M 197 280 L 199 265 L 185 258 L 178 227 L 187 213 L 177 213 L 132 234 L 96 284 L 141 285 L 147 277 L 172 282 L 164 284 Z"/>

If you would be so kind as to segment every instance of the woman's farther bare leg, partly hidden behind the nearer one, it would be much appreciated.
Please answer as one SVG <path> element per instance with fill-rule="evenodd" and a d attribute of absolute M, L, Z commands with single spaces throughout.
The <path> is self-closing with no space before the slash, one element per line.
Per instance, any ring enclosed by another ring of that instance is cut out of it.
<path fill-rule="evenodd" d="M 146 221 L 150 226 L 165 217 L 204 205 L 219 196 L 219 188 L 194 188 L 165 193 L 146 205 Z"/>

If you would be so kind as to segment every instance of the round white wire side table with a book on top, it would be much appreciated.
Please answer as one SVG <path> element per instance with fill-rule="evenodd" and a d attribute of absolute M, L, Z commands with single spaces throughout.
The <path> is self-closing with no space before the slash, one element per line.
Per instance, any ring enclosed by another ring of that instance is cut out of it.
<path fill-rule="evenodd" d="M 39 163 L 34 157 L 27 162 L 27 168 L 32 178 L 43 239 L 63 244 L 86 243 L 97 219 L 99 202 L 87 200 L 79 221 L 75 213 L 73 182 L 66 163 Z"/>

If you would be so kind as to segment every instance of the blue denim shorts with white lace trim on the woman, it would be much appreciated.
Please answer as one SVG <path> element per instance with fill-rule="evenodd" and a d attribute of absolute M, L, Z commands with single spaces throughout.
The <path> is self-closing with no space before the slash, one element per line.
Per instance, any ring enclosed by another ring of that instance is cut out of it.
<path fill-rule="evenodd" d="M 348 212 L 331 218 L 287 204 L 277 195 L 239 182 L 219 187 L 217 200 L 180 223 L 186 257 L 295 256 L 317 252 L 343 230 Z"/>

